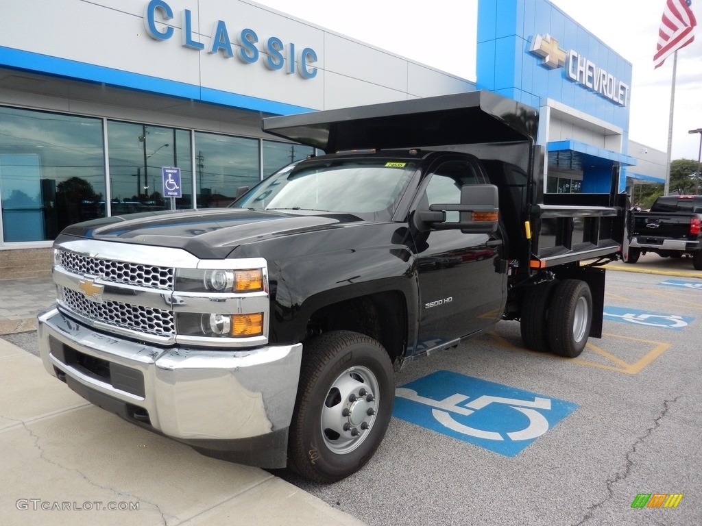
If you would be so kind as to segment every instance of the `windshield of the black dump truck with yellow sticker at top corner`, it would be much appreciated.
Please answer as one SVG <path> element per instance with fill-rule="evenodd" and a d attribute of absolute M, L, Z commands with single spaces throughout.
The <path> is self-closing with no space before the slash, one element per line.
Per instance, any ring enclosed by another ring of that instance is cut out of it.
<path fill-rule="evenodd" d="M 395 211 L 416 165 L 390 159 L 306 162 L 251 189 L 236 208 L 319 210 L 364 215 Z"/>

